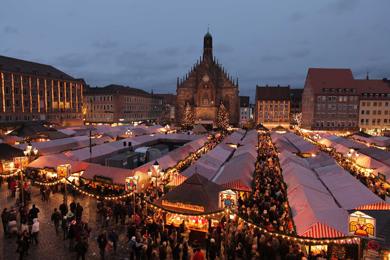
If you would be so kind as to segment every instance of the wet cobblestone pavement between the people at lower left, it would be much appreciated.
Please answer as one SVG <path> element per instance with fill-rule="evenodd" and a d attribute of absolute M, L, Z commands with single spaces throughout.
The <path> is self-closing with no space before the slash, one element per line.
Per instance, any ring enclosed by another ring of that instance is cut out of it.
<path fill-rule="evenodd" d="M 62 230 L 59 227 L 59 233 L 56 234 L 54 223 L 51 221 L 51 215 L 54 208 L 59 208 L 59 205 L 62 203 L 62 194 L 55 193 L 51 197 L 51 202 L 48 204 L 40 200 L 41 196 L 39 194 L 39 186 L 33 186 L 31 200 L 32 203 L 28 203 L 27 207 L 30 209 L 32 204 L 36 204 L 36 207 L 39 208 L 38 220 L 39 220 L 39 244 L 35 245 L 30 243 L 30 253 L 31 255 L 25 257 L 26 260 L 74 260 L 76 259 L 76 253 L 68 250 L 69 240 L 62 240 Z M 72 194 L 68 195 L 68 204 L 73 199 Z M 76 195 L 74 198 L 76 203 L 79 202 L 84 208 L 82 214 L 82 220 L 88 220 L 92 232 L 89 238 L 89 247 L 86 253 L 86 259 L 97 260 L 99 257 L 99 246 L 97 242 L 98 235 L 101 232 L 100 222 L 96 220 L 96 199 L 90 196 L 79 197 Z M 4 207 L 8 209 L 12 205 L 15 205 L 15 198 L 11 198 L 11 190 L 7 189 L 7 183 L 3 183 L 0 187 L 0 211 L 2 212 Z M 116 231 L 119 236 L 119 241 L 117 244 L 117 254 L 114 255 L 113 250 L 111 250 L 108 255 L 106 255 L 106 260 L 122 260 L 123 258 L 129 258 L 129 253 L 127 252 L 128 239 L 126 237 L 126 227 L 124 225 L 117 225 L 115 222 L 112 227 L 116 227 Z M 120 221 L 119 221 L 120 223 Z M 20 232 L 20 218 L 18 214 L 18 228 Z M 16 235 L 14 234 L 11 238 L 3 239 L 3 230 L 1 227 L 0 231 L 0 259 L 19 259 L 19 254 L 16 253 L 17 244 L 16 244 Z M 189 248 L 189 253 L 192 256 L 192 250 Z M 158 248 L 156 249 L 158 253 Z M 168 259 L 172 259 L 170 254 L 170 247 L 168 247 Z M 205 252 L 203 251 L 204 255 Z"/>

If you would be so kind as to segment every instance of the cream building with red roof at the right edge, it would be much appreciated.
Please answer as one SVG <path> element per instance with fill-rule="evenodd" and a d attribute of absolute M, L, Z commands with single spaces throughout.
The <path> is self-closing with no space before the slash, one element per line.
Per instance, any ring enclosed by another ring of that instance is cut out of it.
<path fill-rule="evenodd" d="M 390 87 L 387 78 L 356 79 L 359 103 L 359 128 L 370 134 L 390 129 Z"/>

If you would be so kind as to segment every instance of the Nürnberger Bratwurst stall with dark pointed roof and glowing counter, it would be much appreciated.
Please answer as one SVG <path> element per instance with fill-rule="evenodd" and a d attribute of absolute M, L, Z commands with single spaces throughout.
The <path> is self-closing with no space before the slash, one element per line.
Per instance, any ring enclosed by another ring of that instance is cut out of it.
<path fill-rule="evenodd" d="M 174 223 L 178 232 L 184 221 L 190 231 L 189 239 L 203 241 L 205 233 L 212 233 L 224 215 L 224 209 L 219 207 L 219 192 L 225 189 L 195 172 L 153 204 L 165 211 L 166 226 Z M 235 208 L 236 201 L 232 199 L 230 203 Z"/>

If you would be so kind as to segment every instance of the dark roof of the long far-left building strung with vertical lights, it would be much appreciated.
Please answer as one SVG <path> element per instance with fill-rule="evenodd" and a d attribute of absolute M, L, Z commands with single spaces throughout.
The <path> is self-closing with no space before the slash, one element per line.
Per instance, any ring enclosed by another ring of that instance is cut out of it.
<path fill-rule="evenodd" d="M 61 72 L 53 66 L 6 56 L 0 56 L 0 71 L 76 81 L 74 77 Z"/>

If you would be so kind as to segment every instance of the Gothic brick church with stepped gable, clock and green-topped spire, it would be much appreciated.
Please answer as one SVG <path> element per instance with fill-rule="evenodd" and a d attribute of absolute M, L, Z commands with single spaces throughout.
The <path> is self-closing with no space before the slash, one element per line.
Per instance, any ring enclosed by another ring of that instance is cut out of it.
<path fill-rule="evenodd" d="M 220 104 L 229 113 L 229 124 L 239 124 L 240 98 L 238 96 L 238 78 L 236 81 L 213 59 L 213 38 L 209 31 L 203 39 L 203 59 L 197 60 L 191 70 L 177 78 L 177 97 L 175 123 L 181 124 L 184 110 L 189 104 L 195 120 L 217 123 Z"/>

